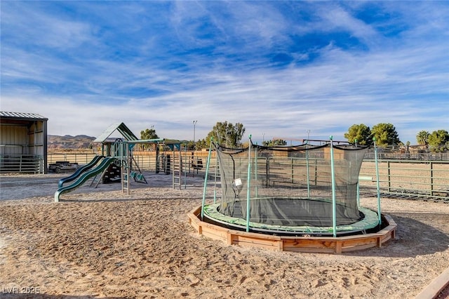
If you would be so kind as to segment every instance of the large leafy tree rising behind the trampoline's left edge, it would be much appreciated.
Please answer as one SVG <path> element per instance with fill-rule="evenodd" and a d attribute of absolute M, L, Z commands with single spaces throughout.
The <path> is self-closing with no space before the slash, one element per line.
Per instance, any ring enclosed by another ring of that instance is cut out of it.
<path fill-rule="evenodd" d="M 239 147 L 241 146 L 241 138 L 245 133 L 245 127 L 243 124 L 236 123 L 235 125 L 225 122 L 217 122 L 213 126 L 206 137 L 206 142 L 210 144 L 210 138 L 213 138 L 214 142 L 223 145 L 225 147 Z"/>

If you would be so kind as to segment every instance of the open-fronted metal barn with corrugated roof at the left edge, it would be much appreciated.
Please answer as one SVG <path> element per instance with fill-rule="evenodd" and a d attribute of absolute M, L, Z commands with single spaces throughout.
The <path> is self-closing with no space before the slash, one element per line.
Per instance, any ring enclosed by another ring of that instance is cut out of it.
<path fill-rule="evenodd" d="M 0 112 L 1 173 L 47 173 L 47 121 L 34 113 Z"/>

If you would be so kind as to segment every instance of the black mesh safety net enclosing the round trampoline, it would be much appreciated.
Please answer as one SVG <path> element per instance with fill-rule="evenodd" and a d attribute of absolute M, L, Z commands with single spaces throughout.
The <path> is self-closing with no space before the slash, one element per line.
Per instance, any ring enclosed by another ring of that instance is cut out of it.
<path fill-rule="evenodd" d="M 215 210 L 225 218 L 246 220 L 249 211 L 261 225 L 329 227 L 335 209 L 336 225 L 363 220 L 357 183 L 368 147 L 213 147 L 222 189 Z"/>

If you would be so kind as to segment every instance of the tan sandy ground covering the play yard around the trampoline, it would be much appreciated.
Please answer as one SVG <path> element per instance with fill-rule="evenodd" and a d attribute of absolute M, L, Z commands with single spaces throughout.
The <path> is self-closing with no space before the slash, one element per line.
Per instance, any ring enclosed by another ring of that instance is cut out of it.
<path fill-rule="evenodd" d="M 55 203 L 62 176 L 1 175 L 0 298 L 414 298 L 449 267 L 449 204 L 382 199 L 398 224 L 382 248 L 272 252 L 194 232 L 199 178 L 173 190 L 147 174 L 130 195 L 86 184 Z"/>

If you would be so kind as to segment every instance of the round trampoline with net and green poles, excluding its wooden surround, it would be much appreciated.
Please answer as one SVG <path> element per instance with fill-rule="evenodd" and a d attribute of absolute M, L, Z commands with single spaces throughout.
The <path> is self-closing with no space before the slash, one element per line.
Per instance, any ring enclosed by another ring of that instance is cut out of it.
<path fill-rule="evenodd" d="M 380 201 L 376 212 L 361 207 L 358 198 L 358 175 L 367 150 L 333 142 L 332 137 L 320 145 L 274 147 L 251 140 L 246 148 L 211 142 L 201 220 L 233 230 L 292 236 L 337 237 L 380 229 Z M 215 152 L 215 167 L 210 152 Z M 211 171 L 215 178 L 220 176 L 221 197 L 206 204 Z"/>

